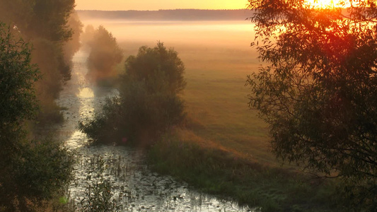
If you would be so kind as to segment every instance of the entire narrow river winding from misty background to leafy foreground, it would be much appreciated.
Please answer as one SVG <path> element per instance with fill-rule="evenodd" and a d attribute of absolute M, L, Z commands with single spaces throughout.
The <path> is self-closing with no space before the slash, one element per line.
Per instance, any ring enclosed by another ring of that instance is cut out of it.
<path fill-rule="evenodd" d="M 197 192 L 172 177 L 149 170 L 143 152 L 122 146 L 86 146 L 88 138 L 76 128 L 78 122 L 90 119 L 100 110 L 105 98 L 117 95 L 110 88 L 92 86 L 86 81 L 86 52 L 74 57 L 71 81 L 66 83 L 57 103 L 66 120 L 58 130 L 59 140 L 76 155 L 74 182 L 69 186 L 70 198 L 80 206 L 86 187 L 101 180 L 93 175 L 93 162 L 103 161 L 103 179 L 110 180 L 113 199 L 123 211 L 256 211 L 240 207 L 233 201 Z M 93 161 L 95 160 L 95 161 Z"/>

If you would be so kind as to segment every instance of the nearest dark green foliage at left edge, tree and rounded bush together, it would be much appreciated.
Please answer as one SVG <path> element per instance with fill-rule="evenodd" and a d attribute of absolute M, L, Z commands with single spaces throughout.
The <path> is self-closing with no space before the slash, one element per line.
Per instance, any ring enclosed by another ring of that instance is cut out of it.
<path fill-rule="evenodd" d="M 30 45 L 0 23 L 0 210 L 30 211 L 56 195 L 71 179 L 73 161 L 51 139 L 30 140 L 26 123 L 38 105 Z M 18 35 L 19 36 L 19 35 Z"/>

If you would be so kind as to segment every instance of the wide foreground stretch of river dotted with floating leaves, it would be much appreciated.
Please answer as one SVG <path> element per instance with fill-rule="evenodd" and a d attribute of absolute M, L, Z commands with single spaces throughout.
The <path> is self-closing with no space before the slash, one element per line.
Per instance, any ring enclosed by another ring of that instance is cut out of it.
<path fill-rule="evenodd" d="M 120 146 L 91 146 L 79 149 L 81 163 L 76 166 L 76 180 L 71 185 L 71 195 L 76 203 L 82 199 L 88 178 L 110 180 L 114 198 L 124 206 L 124 211 L 253 211 L 239 207 L 232 201 L 196 192 L 172 177 L 151 172 L 143 152 Z M 94 155 L 94 156 L 93 156 Z M 88 177 L 95 158 L 104 161 L 103 178 Z"/>

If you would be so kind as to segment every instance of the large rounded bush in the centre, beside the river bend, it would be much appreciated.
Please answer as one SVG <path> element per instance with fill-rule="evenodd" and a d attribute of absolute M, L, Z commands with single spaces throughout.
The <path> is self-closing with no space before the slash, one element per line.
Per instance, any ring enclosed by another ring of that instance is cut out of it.
<path fill-rule="evenodd" d="M 126 60 L 125 69 L 119 97 L 108 100 L 80 129 L 99 143 L 150 146 L 182 122 L 184 105 L 178 94 L 185 88 L 185 68 L 178 53 L 159 42 L 154 48 L 141 47 Z"/>

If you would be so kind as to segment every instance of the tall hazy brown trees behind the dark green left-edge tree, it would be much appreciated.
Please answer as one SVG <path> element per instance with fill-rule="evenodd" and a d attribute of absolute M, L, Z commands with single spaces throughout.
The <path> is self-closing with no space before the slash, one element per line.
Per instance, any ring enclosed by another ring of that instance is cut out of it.
<path fill-rule="evenodd" d="M 33 45 L 32 62 L 38 64 L 42 76 L 35 83 L 40 123 L 62 121 L 54 99 L 71 77 L 71 58 L 80 47 L 82 28 L 74 13 L 74 2 L 0 1 L 0 20 Z"/>

